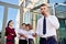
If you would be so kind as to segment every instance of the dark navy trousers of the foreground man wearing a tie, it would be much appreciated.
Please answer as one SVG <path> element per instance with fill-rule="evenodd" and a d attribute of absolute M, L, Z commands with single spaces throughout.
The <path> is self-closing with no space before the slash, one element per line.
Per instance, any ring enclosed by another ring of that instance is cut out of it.
<path fill-rule="evenodd" d="M 56 40 L 54 36 L 44 38 L 44 37 L 40 37 L 40 44 L 57 44 Z"/>

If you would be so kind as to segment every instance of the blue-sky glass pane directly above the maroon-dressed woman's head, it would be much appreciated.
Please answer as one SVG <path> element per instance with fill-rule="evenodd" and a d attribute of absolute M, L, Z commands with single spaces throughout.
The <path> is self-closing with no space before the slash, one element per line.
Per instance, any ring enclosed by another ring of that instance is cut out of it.
<path fill-rule="evenodd" d="M 9 20 L 13 20 L 13 23 L 14 23 L 14 28 L 15 28 L 15 19 L 16 19 L 16 14 L 18 14 L 18 9 L 12 9 L 12 8 L 9 8 L 8 10 L 8 21 Z"/>

